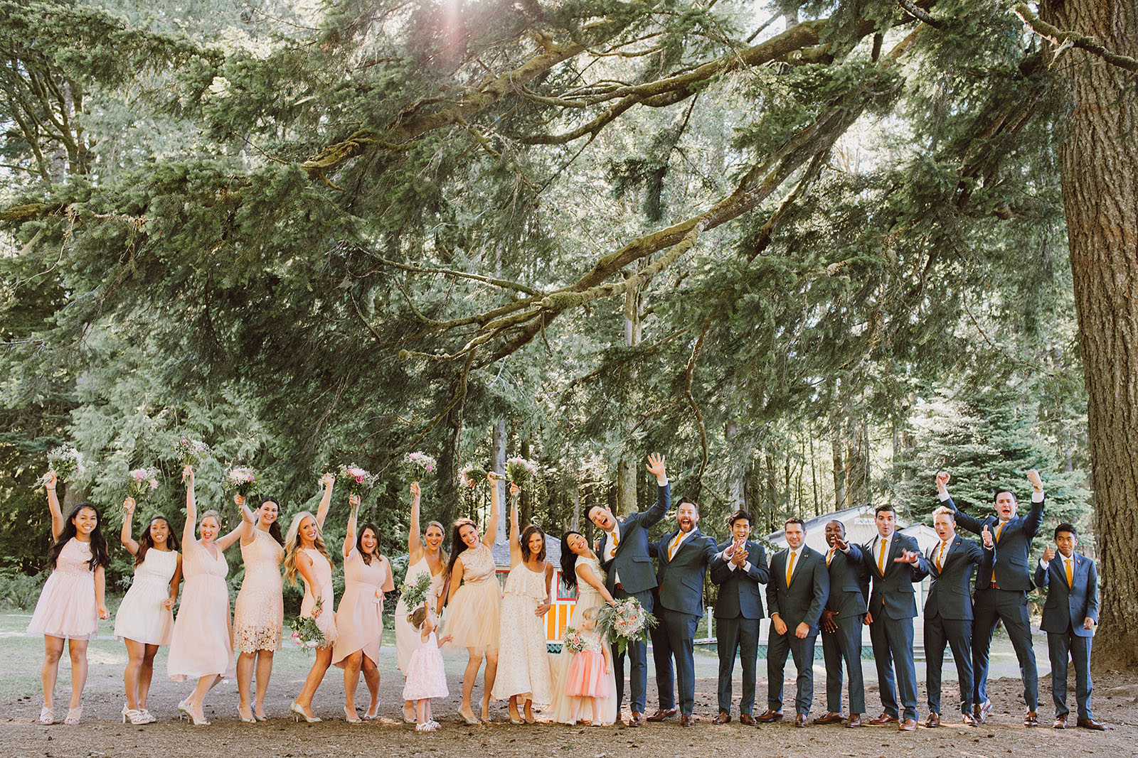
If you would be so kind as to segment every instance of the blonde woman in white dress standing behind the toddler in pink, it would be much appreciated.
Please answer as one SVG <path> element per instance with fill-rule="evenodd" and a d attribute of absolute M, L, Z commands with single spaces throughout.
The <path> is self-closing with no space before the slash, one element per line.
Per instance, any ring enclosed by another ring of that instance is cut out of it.
<path fill-rule="evenodd" d="M 427 602 L 436 614 L 443 613 L 443 590 L 446 580 L 446 561 L 450 557 L 443 550 L 446 530 L 438 522 L 427 524 L 427 530 L 419 536 L 419 482 L 411 483 L 411 530 L 407 532 L 407 573 L 404 582 L 413 586 L 421 574 L 430 576 L 430 588 L 427 590 Z M 395 606 L 395 653 L 399 670 L 404 676 L 411 653 L 419 647 L 419 632 L 407 620 L 410 609 L 399 597 Z M 364 716 L 366 718 L 366 716 Z M 415 723 L 415 703 L 412 700 L 403 702 L 403 720 Z"/>

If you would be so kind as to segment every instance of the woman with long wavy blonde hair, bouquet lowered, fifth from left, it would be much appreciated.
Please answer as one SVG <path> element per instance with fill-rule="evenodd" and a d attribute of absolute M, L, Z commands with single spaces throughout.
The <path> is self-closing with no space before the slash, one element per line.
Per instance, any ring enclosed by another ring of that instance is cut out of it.
<path fill-rule="evenodd" d="M 296 585 L 297 574 L 304 580 L 304 600 L 300 602 L 300 615 L 313 618 L 324 635 L 324 644 L 316 648 L 316 660 L 313 661 L 308 676 L 304 680 L 300 694 L 289 706 L 296 719 L 319 722 L 312 713 L 312 698 L 316 688 L 324 680 L 328 667 L 332 664 L 332 644 L 336 642 L 336 594 L 332 589 L 332 557 L 324 547 L 324 518 L 332 502 L 332 484 L 336 477 L 324 474 L 320 483 L 324 485 L 324 494 L 320 499 L 316 514 L 302 510 L 292 517 L 288 534 L 284 536 L 284 578 Z"/>

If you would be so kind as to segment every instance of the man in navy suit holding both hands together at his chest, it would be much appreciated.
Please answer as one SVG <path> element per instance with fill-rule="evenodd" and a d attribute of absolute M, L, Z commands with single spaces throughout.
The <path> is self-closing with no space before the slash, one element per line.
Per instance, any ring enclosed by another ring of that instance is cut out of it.
<path fill-rule="evenodd" d="M 759 622 L 762 619 L 760 584 L 770 578 L 762 545 L 748 538 L 751 515 L 736 510 L 727 518 L 731 540 L 719 545 L 711 560 L 711 581 L 719 585 L 715 605 L 715 635 L 719 652 L 719 715 L 714 723 L 731 720 L 732 674 L 735 651 L 743 665 L 743 695 L 739 701 L 739 720 L 754 724 L 756 663 L 759 653 Z"/>

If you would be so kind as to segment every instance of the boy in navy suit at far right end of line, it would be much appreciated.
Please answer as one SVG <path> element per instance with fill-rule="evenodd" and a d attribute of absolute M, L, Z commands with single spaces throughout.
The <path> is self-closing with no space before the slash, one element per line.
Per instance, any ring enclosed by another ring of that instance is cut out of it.
<path fill-rule="evenodd" d="M 1079 703 L 1078 726 L 1104 730 L 1090 713 L 1090 641 L 1098 623 L 1098 569 L 1095 561 L 1074 551 L 1079 533 L 1071 524 L 1055 527 L 1055 549 L 1047 548 L 1036 568 L 1036 586 L 1047 588 L 1042 630 L 1052 658 L 1052 698 L 1055 700 L 1055 728 L 1067 727 L 1066 661 L 1074 664 L 1074 699 Z"/>

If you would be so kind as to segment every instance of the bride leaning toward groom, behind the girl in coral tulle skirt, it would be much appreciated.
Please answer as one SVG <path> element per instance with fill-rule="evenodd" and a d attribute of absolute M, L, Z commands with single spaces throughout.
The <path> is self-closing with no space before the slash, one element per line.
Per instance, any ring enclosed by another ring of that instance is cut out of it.
<path fill-rule="evenodd" d="M 561 581 L 566 586 L 577 588 L 577 605 L 572 609 L 569 626 L 582 628 L 582 614 L 587 608 L 596 608 L 605 602 L 613 602 L 612 595 L 604 589 L 604 572 L 596 553 L 588 547 L 588 540 L 578 532 L 567 532 L 561 538 Z M 560 655 L 553 658 L 553 720 L 561 724 L 572 724 L 571 698 L 564 693 L 566 673 L 572 653 L 563 645 Z M 617 677 L 616 672 L 609 672 L 609 697 L 596 699 L 599 714 L 589 713 L 588 701 L 582 706 L 577 720 L 592 720 L 594 724 L 609 726 L 617 720 Z"/>

